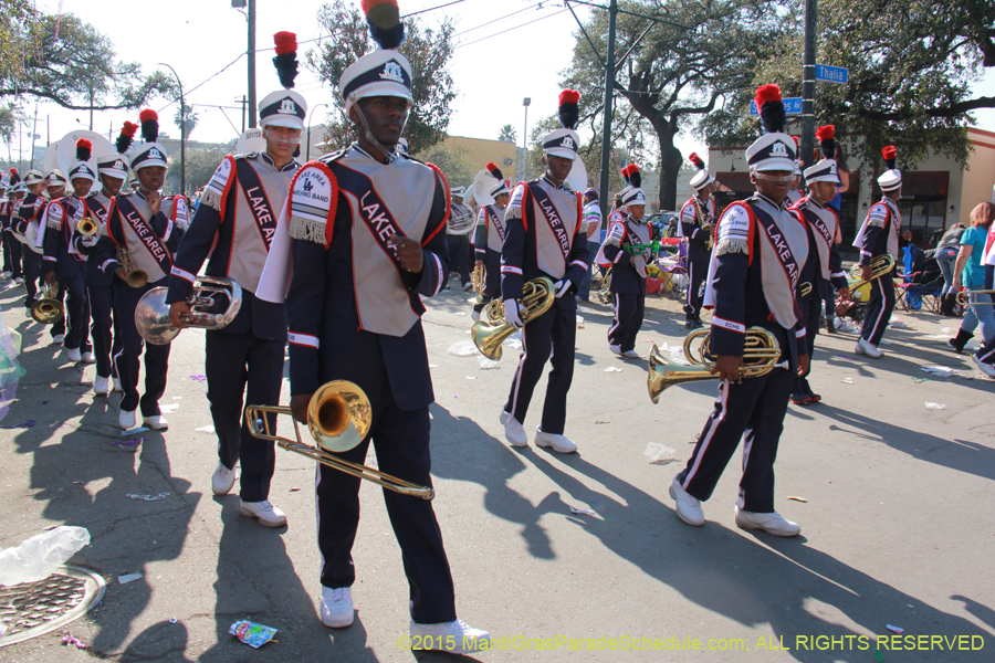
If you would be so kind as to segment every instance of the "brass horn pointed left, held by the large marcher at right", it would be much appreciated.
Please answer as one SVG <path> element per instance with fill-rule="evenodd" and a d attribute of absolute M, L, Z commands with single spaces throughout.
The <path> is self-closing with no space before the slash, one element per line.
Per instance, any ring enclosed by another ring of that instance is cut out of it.
<path fill-rule="evenodd" d="M 695 355 L 692 344 L 701 339 Z M 711 330 L 695 329 L 684 338 L 684 357 L 691 366 L 670 361 L 660 354 L 657 344 L 650 350 L 649 375 L 646 378 L 646 387 L 649 390 L 650 400 L 653 403 L 660 400 L 660 392 L 674 385 L 683 385 L 695 380 L 718 380 L 719 375 L 713 373 L 715 362 L 710 357 Z M 743 368 L 741 377 L 757 378 L 767 375 L 775 368 L 789 368 L 790 364 L 781 358 L 781 346 L 777 338 L 763 327 L 750 327 L 746 329 L 746 345 L 743 348 Z"/>

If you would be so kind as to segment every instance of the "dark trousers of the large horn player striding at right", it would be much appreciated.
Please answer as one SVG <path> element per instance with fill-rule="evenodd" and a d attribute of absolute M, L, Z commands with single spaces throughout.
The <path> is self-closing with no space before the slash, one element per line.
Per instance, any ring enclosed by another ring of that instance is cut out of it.
<path fill-rule="evenodd" d="M 678 475 L 683 488 L 702 502 L 712 496 L 719 477 L 743 439 L 740 508 L 774 511 L 774 460 L 784 430 L 794 373 L 775 368 L 741 385 L 723 381 L 687 467 Z M 745 435 L 744 435 L 745 433 Z"/>

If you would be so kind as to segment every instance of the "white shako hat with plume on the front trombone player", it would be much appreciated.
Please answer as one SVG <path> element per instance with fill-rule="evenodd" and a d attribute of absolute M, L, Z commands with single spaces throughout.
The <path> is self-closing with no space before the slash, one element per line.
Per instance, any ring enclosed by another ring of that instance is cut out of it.
<path fill-rule="evenodd" d="M 400 22 L 397 1 L 363 0 L 363 13 L 369 35 L 380 50 L 350 64 L 338 78 L 346 115 L 356 102 L 367 97 L 394 96 L 415 101 L 411 96 L 411 63 L 395 50 L 405 43 L 405 25 Z"/>

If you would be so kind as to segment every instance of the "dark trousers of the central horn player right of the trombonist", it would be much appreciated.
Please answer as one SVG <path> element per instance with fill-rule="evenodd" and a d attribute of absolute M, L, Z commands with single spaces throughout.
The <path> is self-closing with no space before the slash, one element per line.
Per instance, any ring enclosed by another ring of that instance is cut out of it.
<path fill-rule="evenodd" d="M 543 375 L 546 360 L 553 370 L 546 385 L 543 419 L 544 433 L 562 435 L 566 425 L 566 396 L 574 379 L 574 341 L 577 338 L 577 304 L 574 295 L 554 299 L 553 307 L 522 329 L 522 355 L 512 380 L 505 411 L 525 423 L 528 402 Z M 553 357 L 549 357 L 549 352 Z"/>

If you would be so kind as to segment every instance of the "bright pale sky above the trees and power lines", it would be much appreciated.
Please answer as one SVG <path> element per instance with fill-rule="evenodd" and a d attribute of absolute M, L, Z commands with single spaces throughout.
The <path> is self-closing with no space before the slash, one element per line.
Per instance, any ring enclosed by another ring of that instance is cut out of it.
<path fill-rule="evenodd" d="M 358 4 L 359 0 L 353 1 Z M 399 0 L 399 6 L 406 14 L 451 1 Z M 160 62 L 171 65 L 189 91 L 187 104 L 192 104 L 199 116 L 191 139 L 224 143 L 240 133 L 241 105 L 235 99 L 245 94 L 247 59 L 242 56 L 231 63 L 245 51 L 248 23 L 243 13 L 231 8 L 230 0 L 168 0 L 143 6 L 137 12 L 123 11 L 119 2 L 109 0 L 36 0 L 36 3 L 40 10 L 54 13 L 61 8 L 93 24 L 114 42 L 121 60 L 138 62 L 145 73 L 157 69 Z M 156 6 L 158 13 L 150 15 L 149 8 Z M 272 48 L 272 35 L 281 30 L 295 32 L 298 43 L 322 38 L 316 21 L 321 6 L 321 0 L 256 0 L 256 48 Z M 586 20 L 587 11 L 600 11 L 582 7 L 575 6 L 580 20 Z M 521 145 L 524 97 L 532 99 L 530 125 L 556 112 L 559 73 L 570 63 L 576 22 L 562 4 L 538 0 L 458 0 L 420 14 L 429 25 L 437 24 L 443 15 L 453 19 L 459 43 L 451 65 L 458 96 L 449 134 L 496 139 L 501 127 L 512 124 Z M 323 84 L 303 66 L 304 53 L 317 43 L 301 43 L 298 49 L 302 66 L 296 90 L 312 109 L 337 94 L 334 85 Z M 256 54 L 259 98 L 279 86 L 272 56 L 272 51 Z M 974 92 L 995 96 L 995 71 L 988 72 Z M 28 115 L 33 116 L 34 106 L 34 103 L 25 104 Z M 174 124 L 177 103 L 158 98 L 151 107 L 160 113 L 161 131 L 178 137 L 179 129 Z M 325 108 L 317 108 L 312 124 L 318 124 L 324 113 Z M 137 122 L 137 113 L 96 112 L 94 130 L 106 135 L 113 125 L 116 134 L 128 119 Z M 995 109 L 978 112 L 976 119 L 976 126 L 995 130 Z M 55 141 L 88 126 L 88 110 L 38 104 L 36 133 L 42 145 L 49 135 Z M 677 147 L 684 155 L 704 150 L 690 136 L 681 136 Z M 25 144 L 25 158 L 29 151 Z"/>

